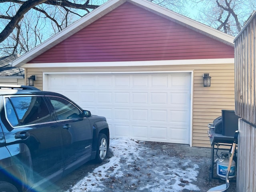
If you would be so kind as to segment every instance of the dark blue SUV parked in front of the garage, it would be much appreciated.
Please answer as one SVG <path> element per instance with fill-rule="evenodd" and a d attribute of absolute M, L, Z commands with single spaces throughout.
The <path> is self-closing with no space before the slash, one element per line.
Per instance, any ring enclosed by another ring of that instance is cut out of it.
<path fill-rule="evenodd" d="M 109 146 L 106 118 L 65 96 L 0 86 L 0 192 L 43 191 Z"/>

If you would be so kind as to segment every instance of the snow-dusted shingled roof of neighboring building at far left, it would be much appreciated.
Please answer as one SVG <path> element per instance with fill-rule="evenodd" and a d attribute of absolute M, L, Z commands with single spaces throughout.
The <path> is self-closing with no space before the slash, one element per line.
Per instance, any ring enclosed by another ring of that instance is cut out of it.
<path fill-rule="evenodd" d="M 24 69 L 12 66 L 12 61 L 18 57 L 18 54 L 0 57 L 0 77 L 24 78 Z"/>

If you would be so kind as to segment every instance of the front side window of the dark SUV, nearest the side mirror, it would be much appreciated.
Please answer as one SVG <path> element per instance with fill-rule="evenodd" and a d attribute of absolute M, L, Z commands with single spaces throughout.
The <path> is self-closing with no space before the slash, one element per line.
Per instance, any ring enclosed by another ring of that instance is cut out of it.
<path fill-rule="evenodd" d="M 48 97 L 56 112 L 57 120 L 81 118 L 82 112 L 72 103 L 59 97 Z"/>

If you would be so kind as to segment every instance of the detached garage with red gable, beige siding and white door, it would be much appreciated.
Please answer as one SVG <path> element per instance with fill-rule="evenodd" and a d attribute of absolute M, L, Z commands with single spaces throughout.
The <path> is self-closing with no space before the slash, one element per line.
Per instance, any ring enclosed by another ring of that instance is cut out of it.
<path fill-rule="evenodd" d="M 234 109 L 233 39 L 146 0 L 110 0 L 13 66 L 105 116 L 112 138 L 210 146 L 208 123 Z"/>

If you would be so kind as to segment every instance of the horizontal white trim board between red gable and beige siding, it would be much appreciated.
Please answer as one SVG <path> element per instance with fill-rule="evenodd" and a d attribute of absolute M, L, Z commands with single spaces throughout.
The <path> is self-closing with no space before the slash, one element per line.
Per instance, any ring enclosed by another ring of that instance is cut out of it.
<path fill-rule="evenodd" d="M 129 66 L 175 66 L 202 64 L 234 64 L 234 58 L 226 59 L 191 59 L 161 61 L 125 61 L 125 62 L 72 62 L 72 63 L 27 63 L 22 68 L 69 68 L 69 67 L 129 67 Z"/>

